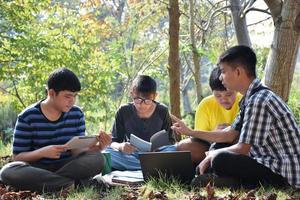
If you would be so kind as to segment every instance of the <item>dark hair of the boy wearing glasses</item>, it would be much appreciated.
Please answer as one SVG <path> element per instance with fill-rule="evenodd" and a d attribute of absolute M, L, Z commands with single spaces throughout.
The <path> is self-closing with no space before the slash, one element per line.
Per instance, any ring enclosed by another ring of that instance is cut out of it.
<path fill-rule="evenodd" d="M 156 93 L 156 82 L 150 76 L 138 75 L 132 83 L 132 90 L 144 95 Z"/>

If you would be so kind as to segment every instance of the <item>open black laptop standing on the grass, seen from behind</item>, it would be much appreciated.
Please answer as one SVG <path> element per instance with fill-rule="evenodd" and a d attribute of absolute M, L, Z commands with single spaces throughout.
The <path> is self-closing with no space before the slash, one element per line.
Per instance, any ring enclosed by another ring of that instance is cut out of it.
<path fill-rule="evenodd" d="M 191 152 L 144 152 L 139 154 L 144 180 L 175 178 L 189 184 L 195 177 Z"/>

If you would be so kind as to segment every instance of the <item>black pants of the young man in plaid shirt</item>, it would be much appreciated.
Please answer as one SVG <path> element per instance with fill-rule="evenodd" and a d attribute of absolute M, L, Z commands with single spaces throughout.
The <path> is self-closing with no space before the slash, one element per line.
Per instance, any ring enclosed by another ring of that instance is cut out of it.
<path fill-rule="evenodd" d="M 232 177 L 244 187 L 257 187 L 260 184 L 275 187 L 287 186 L 286 180 L 271 169 L 256 162 L 249 156 L 220 152 L 212 160 L 211 170 L 218 176 Z"/>

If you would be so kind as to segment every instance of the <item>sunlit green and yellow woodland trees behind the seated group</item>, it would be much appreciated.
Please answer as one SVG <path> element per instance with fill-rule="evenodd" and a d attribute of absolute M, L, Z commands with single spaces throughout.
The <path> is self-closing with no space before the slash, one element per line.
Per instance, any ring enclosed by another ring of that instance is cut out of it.
<path fill-rule="evenodd" d="M 139 73 L 155 77 L 159 101 L 187 119 L 210 93 L 207 77 L 218 55 L 242 43 L 239 37 L 251 38 L 245 17 L 252 11 L 272 14 L 275 34 L 265 80 L 287 99 L 299 48 L 299 3 L 265 0 L 269 9 L 264 10 L 255 2 L 263 1 L 181 0 L 174 21 L 169 14 L 177 1 L 169 0 L 2 2 L 1 108 L 18 113 L 44 98 L 48 73 L 64 66 L 80 76 L 83 90 L 78 103 L 89 131 L 99 126 L 110 130 L 115 110 L 130 100 L 128 88 Z M 169 28 L 169 22 L 175 29 Z M 173 34 L 177 36 L 169 43 Z M 259 55 L 262 77 L 269 49 L 255 41 L 247 43 Z M 291 102 L 296 102 L 294 98 Z M 297 103 L 293 105 L 297 110 Z M 0 112 L 1 120 L 7 119 L 4 113 L 8 112 Z"/>

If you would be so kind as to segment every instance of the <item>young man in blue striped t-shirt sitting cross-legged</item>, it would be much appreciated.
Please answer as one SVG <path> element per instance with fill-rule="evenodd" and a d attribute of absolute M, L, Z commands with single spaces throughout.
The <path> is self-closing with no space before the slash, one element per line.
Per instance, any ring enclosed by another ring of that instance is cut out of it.
<path fill-rule="evenodd" d="M 52 72 L 47 98 L 26 108 L 18 116 L 13 138 L 14 162 L 0 172 L 1 181 L 20 190 L 58 191 L 87 182 L 101 172 L 100 150 L 111 138 L 100 131 L 98 142 L 85 149 L 67 150 L 66 142 L 85 135 L 84 115 L 74 106 L 81 85 L 66 68 Z"/>

